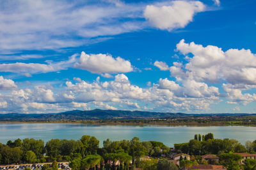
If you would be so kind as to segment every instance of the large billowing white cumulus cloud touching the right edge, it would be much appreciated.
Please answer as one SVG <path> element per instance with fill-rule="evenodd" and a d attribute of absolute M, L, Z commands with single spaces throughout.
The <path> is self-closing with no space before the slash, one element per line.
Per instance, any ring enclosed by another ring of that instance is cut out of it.
<path fill-rule="evenodd" d="M 219 82 L 225 80 L 231 84 L 244 83 L 256 85 L 256 55 L 250 50 L 230 49 L 223 52 L 217 46 L 196 45 L 185 43 L 182 39 L 177 44 L 177 50 L 184 55 L 192 53 L 188 64 L 170 68 L 173 76 L 186 76 L 197 81 Z M 173 71 L 173 72 L 172 72 Z"/>

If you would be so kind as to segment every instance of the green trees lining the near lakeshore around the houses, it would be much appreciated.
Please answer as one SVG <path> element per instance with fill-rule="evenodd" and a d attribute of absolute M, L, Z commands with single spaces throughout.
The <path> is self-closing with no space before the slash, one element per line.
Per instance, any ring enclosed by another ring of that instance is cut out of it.
<path fill-rule="evenodd" d="M 94 136 L 82 136 L 81 139 L 51 139 L 44 144 L 42 140 L 16 139 L 0 144 L 1 164 L 36 163 L 36 162 L 70 162 L 70 167 L 79 169 L 178 169 L 168 161 L 174 152 L 159 141 L 140 141 L 132 138 L 122 141 L 106 139 L 99 148 L 99 140 Z M 256 153 L 256 140 L 246 142 L 243 146 L 235 139 L 214 139 L 213 134 L 196 134 L 188 143 L 175 144 L 175 152 L 191 155 L 191 160 L 180 157 L 180 167 L 193 164 L 221 164 L 228 169 L 253 169 L 256 160 L 246 159 L 239 164 L 241 156 L 234 153 Z M 220 157 L 220 162 L 202 162 L 200 155 L 211 153 Z M 45 169 L 53 169 L 45 167 Z"/>

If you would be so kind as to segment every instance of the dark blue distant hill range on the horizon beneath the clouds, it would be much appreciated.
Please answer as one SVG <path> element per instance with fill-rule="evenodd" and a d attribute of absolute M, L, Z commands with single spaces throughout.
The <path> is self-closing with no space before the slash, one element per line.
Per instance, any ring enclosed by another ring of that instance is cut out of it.
<path fill-rule="evenodd" d="M 125 110 L 72 110 L 62 113 L 0 114 L 0 120 L 86 120 L 86 119 L 148 119 L 148 118 L 174 118 L 174 117 L 214 117 L 214 116 L 244 116 L 256 115 L 246 113 L 218 113 L 218 114 L 186 114 L 186 113 L 161 113 L 152 111 L 125 111 Z"/>

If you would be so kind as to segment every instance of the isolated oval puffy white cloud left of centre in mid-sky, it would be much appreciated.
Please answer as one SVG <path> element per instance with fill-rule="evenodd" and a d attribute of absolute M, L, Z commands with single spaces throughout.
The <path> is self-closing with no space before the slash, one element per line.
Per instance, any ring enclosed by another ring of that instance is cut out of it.
<path fill-rule="evenodd" d="M 84 52 L 81 53 L 79 62 L 76 63 L 75 67 L 86 69 L 91 73 L 102 74 L 105 77 L 110 76 L 108 73 L 127 73 L 133 70 L 131 62 L 121 57 L 115 59 L 111 55 L 102 53 L 89 55 Z"/>

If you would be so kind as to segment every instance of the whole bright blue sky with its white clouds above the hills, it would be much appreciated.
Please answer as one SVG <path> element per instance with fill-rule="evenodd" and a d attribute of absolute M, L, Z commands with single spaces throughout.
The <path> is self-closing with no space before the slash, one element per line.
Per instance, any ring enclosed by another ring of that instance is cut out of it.
<path fill-rule="evenodd" d="M 0 1 L 0 113 L 256 113 L 256 1 Z"/>

